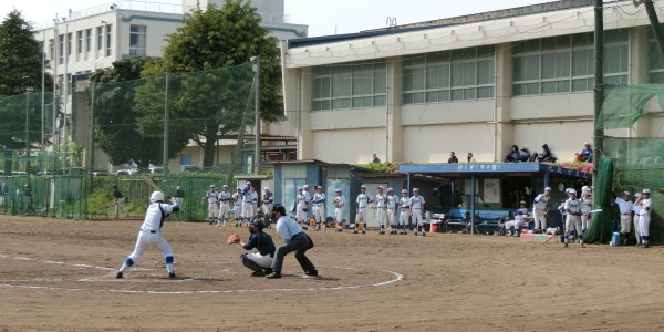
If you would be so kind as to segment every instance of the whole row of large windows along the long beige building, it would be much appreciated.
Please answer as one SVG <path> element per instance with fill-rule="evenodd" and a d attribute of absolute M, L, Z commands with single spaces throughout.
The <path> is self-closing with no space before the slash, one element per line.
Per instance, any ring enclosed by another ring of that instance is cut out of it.
<path fill-rule="evenodd" d="M 651 33 L 652 34 L 652 33 Z M 587 92 L 593 89 L 593 33 L 528 40 L 512 44 L 512 95 Z M 491 98 L 495 48 L 479 46 L 402 59 L 402 103 Z M 604 32 L 604 82 L 629 83 L 630 31 Z M 384 106 L 385 60 L 313 68 L 312 110 Z M 664 56 L 649 38 L 649 83 L 664 83 Z"/>

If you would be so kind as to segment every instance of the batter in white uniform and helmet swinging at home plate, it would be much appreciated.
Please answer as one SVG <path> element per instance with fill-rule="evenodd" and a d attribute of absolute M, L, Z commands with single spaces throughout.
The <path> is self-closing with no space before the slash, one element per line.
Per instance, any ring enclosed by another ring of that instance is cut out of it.
<path fill-rule="evenodd" d="M 175 278 L 175 270 L 173 268 L 173 249 L 162 235 L 162 228 L 164 227 L 164 220 L 166 220 L 168 215 L 179 211 L 179 205 L 177 200 L 175 204 L 164 204 L 164 194 L 160 191 L 152 193 L 149 201 L 151 204 L 145 212 L 143 225 L 141 225 L 134 252 L 132 252 L 132 255 L 125 259 L 115 278 L 123 278 L 124 272 L 136 261 L 138 261 L 145 250 L 152 246 L 157 247 L 157 249 L 159 249 L 164 255 L 168 278 Z"/>

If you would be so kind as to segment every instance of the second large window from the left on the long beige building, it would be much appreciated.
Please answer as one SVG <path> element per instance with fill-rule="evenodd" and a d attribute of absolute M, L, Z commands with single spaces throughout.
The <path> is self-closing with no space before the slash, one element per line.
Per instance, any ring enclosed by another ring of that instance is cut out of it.
<path fill-rule="evenodd" d="M 404 59 L 403 104 L 492 97 L 494 52 L 481 46 Z"/>

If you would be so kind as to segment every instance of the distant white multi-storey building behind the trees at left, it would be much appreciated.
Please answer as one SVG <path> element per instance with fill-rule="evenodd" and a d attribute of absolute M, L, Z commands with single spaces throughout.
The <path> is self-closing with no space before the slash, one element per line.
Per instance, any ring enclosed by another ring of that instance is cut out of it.
<path fill-rule="evenodd" d="M 207 3 L 200 2 L 205 9 Z M 308 25 L 288 22 L 283 0 L 256 3 L 259 6 L 259 13 L 264 14 L 262 25 L 274 37 L 280 40 L 307 37 Z M 83 10 L 70 10 L 66 17 L 35 24 L 35 39 L 43 41 L 51 73 L 58 77 L 58 82 L 69 82 L 59 85 L 59 93 L 68 95 L 63 106 L 68 122 L 56 135 L 64 136 L 63 133 L 69 133 L 66 139 L 86 146 L 91 131 L 85 98 L 82 97 L 72 105 L 72 91 L 82 92 L 90 73 L 110 68 L 114 61 L 131 56 L 162 56 L 166 46 L 165 38 L 181 25 L 183 9 L 189 11 L 193 6 L 196 6 L 196 1 L 183 0 L 183 4 L 116 1 Z M 72 84 L 73 81 L 76 84 Z M 278 133 L 272 135 L 283 135 L 283 129 L 273 129 Z M 220 144 L 217 159 L 231 163 L 228 156 L 234 146 L 235 143 Z M 170 162 L 170 168 L 177 170 L 180 164 L 201 165 L 201 160 L 203 151 L 191 145 L 176 160 Z M 107 156 L 101 149 L 95 149 L 93 168 L 106 169 L 106 165 Z"/>

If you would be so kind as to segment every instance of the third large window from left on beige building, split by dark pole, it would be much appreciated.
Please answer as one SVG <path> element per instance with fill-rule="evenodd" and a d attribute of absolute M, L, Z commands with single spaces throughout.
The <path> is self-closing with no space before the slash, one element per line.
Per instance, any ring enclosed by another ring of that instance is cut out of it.
<path fill-rule="evenodd" d="M 593 33 L 528 40 L 513 45 L 512 94 L 537 95 L 593 87 Z M 627 83 L 629 30 L 604 33 L 606 84 Z"/>

